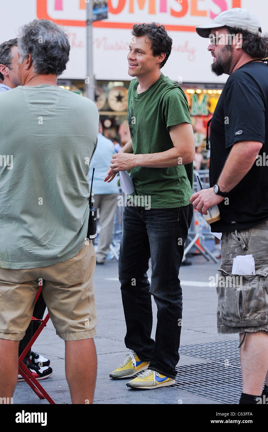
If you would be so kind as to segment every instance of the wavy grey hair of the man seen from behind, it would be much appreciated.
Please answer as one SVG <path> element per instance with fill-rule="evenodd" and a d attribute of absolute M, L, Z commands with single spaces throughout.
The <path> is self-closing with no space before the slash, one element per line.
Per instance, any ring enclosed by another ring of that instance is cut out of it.
<path fill-rule="evenodd" d="M 60 75 L 66 69 L 69 51 L 68 36 L 52 21 L 34 19 L 20 29 L 20 63 L 31 54 L 34 72 L 38 74 Z"/>

